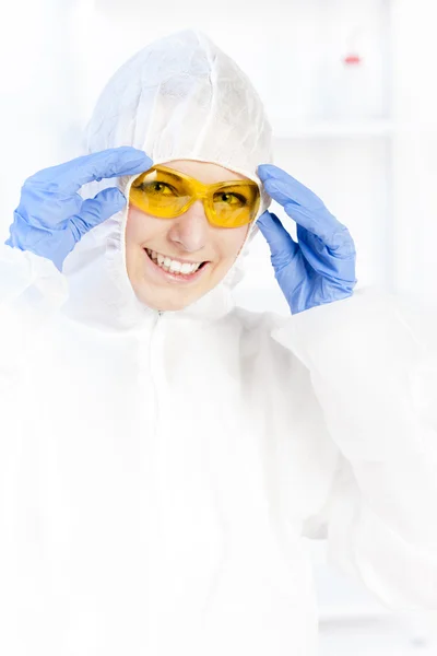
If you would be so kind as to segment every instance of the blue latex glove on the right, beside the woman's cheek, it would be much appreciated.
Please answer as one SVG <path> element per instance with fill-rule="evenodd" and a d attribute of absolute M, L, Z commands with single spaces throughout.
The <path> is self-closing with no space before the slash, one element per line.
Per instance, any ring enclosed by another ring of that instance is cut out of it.
<path fill-rule="evenodd" d="M 297 223 L 296 243 L 275 214 L 265 211 L 257 222 L 292 314 L 352 296 L 356 254 L 349 230 L 282 168 L 262 164 L 258 175 L 269 196 Z"/>

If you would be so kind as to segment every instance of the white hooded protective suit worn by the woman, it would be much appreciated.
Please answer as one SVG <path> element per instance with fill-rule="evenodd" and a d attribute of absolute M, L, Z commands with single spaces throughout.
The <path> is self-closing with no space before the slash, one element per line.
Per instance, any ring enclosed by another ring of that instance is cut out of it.
<path fill-rule="evenodd" d="M 271 160 L 249 80 L 191 31 L 108 82 L 87 151 L 118 145 L 252 179 Z M 305 537 L 390 608 L 437 608 L 437 359 L 420 321 L 374 290 L 290 317 L 236 307 L 246 247 L 158 314 L 129 283 L 126 219 L 62 274 L 1 247 L 0 654 L 314 655 Z"/>

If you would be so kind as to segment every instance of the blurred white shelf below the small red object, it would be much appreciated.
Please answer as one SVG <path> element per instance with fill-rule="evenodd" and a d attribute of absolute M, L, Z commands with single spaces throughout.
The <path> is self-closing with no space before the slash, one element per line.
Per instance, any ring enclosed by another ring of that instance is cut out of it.
<path fill-rule="evenodd" d="M 281 117 L 272 118 L 272 126 L 276 139 L 389 137 L 395 130 L 394 122 L 389 119 L 315 121 L 298 125 L 293 119 Z"/>

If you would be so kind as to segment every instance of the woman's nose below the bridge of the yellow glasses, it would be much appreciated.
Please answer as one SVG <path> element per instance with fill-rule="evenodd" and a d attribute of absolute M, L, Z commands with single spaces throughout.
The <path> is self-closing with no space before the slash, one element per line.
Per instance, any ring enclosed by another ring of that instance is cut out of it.
<path fill-rule="evenodd" d="M 194 253 L 205 246 L 209 232 L 203 203 L 196 200 L 184 214 L 172 221 L 168 238 L 186 253 Z"/>

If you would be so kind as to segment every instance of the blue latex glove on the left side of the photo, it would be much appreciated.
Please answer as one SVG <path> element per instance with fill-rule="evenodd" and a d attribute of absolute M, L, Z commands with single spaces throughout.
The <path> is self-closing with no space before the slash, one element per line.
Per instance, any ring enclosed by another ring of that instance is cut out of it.
<path fill-rule="evenodd" d="M 83 200 L 85 183 L 147 171 L 152 160 L 132 147 L 113 148 L 44 168 L 24 181 L 14 211 L 8 246 L 50 259 L 62 271 L 63 260 L 90 230 L 119 212 L 126 197 L 109 187 Z"/>

